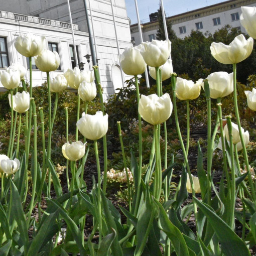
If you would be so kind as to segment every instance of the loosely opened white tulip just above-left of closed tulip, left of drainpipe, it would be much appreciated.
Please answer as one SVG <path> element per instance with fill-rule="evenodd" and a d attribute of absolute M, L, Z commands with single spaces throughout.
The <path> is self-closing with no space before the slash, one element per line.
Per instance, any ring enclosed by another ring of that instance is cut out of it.
<path fill-rule="evenodd" d="M 68 81 L 68 85 L 73 89 L 78 89 L 82 81 L 88 81 L 92 77 L 90 76 L 89 78 L 87 73 L 85 71 L 80 71 L 78 67 L 75 67 L 73 70 L 69 68 L 64 73 L 64 76 Z"/>

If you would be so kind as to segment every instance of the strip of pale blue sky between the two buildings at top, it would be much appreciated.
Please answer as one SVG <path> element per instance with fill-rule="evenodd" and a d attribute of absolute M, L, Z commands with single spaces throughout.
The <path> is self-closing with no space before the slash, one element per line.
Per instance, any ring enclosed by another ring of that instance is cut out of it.
<path fill-rule="evenodd" d="M 163 0 L 165 13 L 167 16 L 173 16 L 199 9 L 206 6 L 215 5 L 221 0 Z M 137 23 L 137 15 L 135 9 L 135 0 L 125 0 L 127 16 L 131 19 L 132 24 Z M 149 22 L 149 14 L 157 12 L 159 9 L 159 0 L 137 0 L 140 20 Z"/>

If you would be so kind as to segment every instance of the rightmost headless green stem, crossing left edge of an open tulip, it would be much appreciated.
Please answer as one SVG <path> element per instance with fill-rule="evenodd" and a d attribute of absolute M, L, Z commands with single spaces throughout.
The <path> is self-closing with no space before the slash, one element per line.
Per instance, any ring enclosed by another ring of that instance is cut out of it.
<path fill-rule="evenodd" d="M 229 226 L 234 228 L 234 208 L 235 208 L 235 170 L 234 170 L 234 150 L 233 150 L 233 135 L 232 135 L 232 124 L 231 116 L 226 116 L 227 127 L 228 127 L 228 136 L 230 142 L 230 159 L 231 159 L 231 200 L 230 200 L 230 214 L 229 214 Z"/>

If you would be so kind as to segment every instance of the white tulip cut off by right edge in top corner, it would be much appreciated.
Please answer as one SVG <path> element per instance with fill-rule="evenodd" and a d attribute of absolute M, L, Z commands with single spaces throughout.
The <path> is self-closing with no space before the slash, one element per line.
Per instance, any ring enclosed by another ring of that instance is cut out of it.
<path fill-rule="evenodd" d="M 241 7 L 240 23 L 245 28 L 247 34 L 256 39 L 256 7 Z"/>

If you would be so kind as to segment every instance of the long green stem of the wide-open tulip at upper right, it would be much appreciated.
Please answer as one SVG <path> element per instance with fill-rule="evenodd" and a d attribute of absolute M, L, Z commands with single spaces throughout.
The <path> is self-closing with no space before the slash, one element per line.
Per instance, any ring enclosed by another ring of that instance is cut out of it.
<path fill-rule="evenodd" d="M 239 117 L 238 104 L 237 104 L 236 63 L 233 64 L 233 86 L 234 86 L 234 91 L 233 91 L 234 97 L 233 98 L 234 98 L 234 109 L 235 109 L 236 122 L 237 122 L 237 125 L 238 125 L 239 136 L 240 136 L 240 140 L 241 140 L 241 144 L 242 144 L 242 152 L 243 152 L 243 157 L 244 157 L 246 170 L 249 171 L 249 161 L 248 161 L 247 151 L 246 151 L 246 147 L 245 147 L 245 143 L 244 143 L 244 139 L 243 139 L 240 117 Z M 251 189 L 251 195 L 252 195 L 252 198 L 253 198 L 253 202 L 254 202 L 254 204 L 256 204 L 255 189 L 254 189 L 254 185 L 253 185 L 253 182 L 252 182 L 252 179 L 251 179 L 250 175 L 248 175 L 248 181 L 249 181 L 249 185 L 250 185 L 250 189 Z"/>

